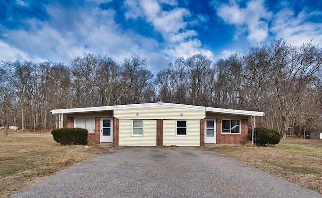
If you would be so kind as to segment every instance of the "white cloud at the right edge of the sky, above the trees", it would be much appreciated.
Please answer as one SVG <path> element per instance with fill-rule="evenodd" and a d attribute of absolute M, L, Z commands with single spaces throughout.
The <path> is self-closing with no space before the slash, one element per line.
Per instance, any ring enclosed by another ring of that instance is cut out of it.
<path fill-rule="evenodd" d="M 308 21 L 310 17 L 321 18 L 317 11 L 301 11 L 297 16 L 288 8 L 280 10 L 273 18 L 271 32 L 277 38 L 287 39 L 290 43 L 301 45 L 312 40 L 322 43 L 322 23 Z"/>

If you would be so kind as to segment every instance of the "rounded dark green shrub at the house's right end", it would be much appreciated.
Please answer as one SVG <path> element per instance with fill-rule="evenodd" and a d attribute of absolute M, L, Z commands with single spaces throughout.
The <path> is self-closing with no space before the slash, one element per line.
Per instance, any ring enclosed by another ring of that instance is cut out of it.
<path fill-rule="evenodd" d="M 281 140 L 278 131 L 269 128 L 256 128 L 255 135 L 255 143 L 260 146 L 278 144 Z"/>

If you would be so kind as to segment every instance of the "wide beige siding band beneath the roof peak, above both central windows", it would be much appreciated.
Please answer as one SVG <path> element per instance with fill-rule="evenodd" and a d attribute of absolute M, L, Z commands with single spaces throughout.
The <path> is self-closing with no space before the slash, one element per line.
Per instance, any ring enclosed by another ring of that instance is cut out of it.
<path fill-rule="evenodd" d="M 205 118 L 205 111 L 174 107 L 129 108 L 114 110 L 114 117 L 118 119 L 200 120 Z"/>

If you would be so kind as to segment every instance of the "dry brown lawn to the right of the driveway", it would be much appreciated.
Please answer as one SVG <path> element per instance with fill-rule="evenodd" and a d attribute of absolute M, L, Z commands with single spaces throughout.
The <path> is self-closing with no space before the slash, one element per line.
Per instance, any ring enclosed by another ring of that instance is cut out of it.
<path fill-rule="evenodd" d="M 275 146 L 208 149 L 322 194 L 322 140 L 286 139 Z"/>

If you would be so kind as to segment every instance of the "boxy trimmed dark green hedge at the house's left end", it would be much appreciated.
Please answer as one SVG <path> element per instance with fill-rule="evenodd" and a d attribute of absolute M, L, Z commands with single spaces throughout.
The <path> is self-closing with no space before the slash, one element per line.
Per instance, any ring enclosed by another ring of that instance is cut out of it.
<path fill-rule="evenodd" d="M 60 145 L 86 145 L 87 133 L 87 129 L 81 128 L 61 128 L 51 131 L 54 140 Z"/>

